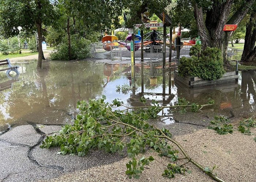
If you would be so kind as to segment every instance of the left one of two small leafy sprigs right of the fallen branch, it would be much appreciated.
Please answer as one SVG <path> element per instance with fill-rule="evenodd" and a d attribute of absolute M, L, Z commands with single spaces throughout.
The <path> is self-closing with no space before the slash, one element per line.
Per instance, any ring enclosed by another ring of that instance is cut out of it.
<path fill-rule="evenodd" d="M 208 129 L 215 130 L 220 135 L 231 134 L 233 133 L 233 126 L 228 124 L 229 122 L 230 120 L 224 116 L 214 116 L 214 120 L 211 120 Z"/>

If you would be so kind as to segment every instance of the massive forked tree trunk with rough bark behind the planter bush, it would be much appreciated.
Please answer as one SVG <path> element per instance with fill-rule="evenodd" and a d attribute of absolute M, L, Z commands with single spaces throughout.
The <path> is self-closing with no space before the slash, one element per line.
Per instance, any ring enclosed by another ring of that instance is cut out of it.
<path fill-rule="evenodd" d="M 233 32 L 224 32 L 222 29 L 225 24 L 239 24 L 255 0 L 247 0 L 247 3 L 238 8 L 228 20 L 233 1 L 226 0 L 224 3 L 222 3 L 223 1 L 214 1 L 212 9 L 206 11 L 205 18 L 202 7 L 197 4 L 194 5 L 194 15 L 202 42 L 202 50 L 207 46 L 221 49 L 226 67 L 230 65 L 227 59 L 227 47 Z"/>

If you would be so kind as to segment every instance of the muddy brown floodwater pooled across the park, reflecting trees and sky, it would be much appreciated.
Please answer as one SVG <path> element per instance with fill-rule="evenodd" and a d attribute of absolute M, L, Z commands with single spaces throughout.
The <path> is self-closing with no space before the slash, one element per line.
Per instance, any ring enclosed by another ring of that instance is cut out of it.
<path fill-rule="evenodd" d="M 174 83 L 175 65 L 167 65 L 170 68 L 163 73 L 162 63 L 138 63 L 134 67 L 138 88 L 123 93 L 117 92 L 116 86 L 131 85 L 131 64 L 47 61 L 41 70 L 36 70 L 34 61 L 16 64 L 20 65 L 18 78 L 9 80 L 4 71 L 0 72 L 0 131 L 27 123 L 68 123 L 78 112 L 79 100 L 102 95 L 106 95 L 107 102 L 118 98 L 129 106 L 141 106 L 142 95 L 148 103 L 155 99 L 165 105 L 176 104 L 178 97 L 199 104 L 212 98 L 215 104 L 207 109 L 230 117 L 250 115 L 256 109 L 255 71 L 240 72 L 238 83 L 189 89 Z M 165 124 L 175 122 L 175 115 L 179 114 L 167 110 L 159 113 L 165 115 L 161 117 Z"/>

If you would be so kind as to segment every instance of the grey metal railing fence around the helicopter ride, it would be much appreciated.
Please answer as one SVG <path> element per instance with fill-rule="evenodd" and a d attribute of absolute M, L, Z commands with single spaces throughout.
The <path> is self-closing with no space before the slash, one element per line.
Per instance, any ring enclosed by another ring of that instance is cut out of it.
<path fill-rule="evenodd" d="M 189 57 L 189 50 L 192 46 L 172 46 L 172 60 L 178 57 Z M 112 60 L 131 60 L 130 45 L 118 45 L 96 43 L 90 44 L 90 55 L 94 58 Z M 166 46 L 166 60 L 169 60 L 169 46 Z M 179 54 L 178 54 L 179 53 Z M 141 60 L 141 47 L 135 44 L 135 60 Z M 143 59 L 150 61 L 163 60 L 163 46 L 146 45 L 143 46 Z"/>

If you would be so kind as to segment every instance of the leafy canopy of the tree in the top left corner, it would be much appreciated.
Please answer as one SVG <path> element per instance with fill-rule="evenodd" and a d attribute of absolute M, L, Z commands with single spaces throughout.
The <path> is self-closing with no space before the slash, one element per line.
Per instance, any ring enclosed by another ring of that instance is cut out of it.
<path fill-rule="evenodd" d="M 4 37 L 19 34 L 18 27 L 27 32 L 37 30 L 37 24 L 53 24 L 57 17 L 57 8 L 48 0 L 0 0 L 0 34 Z"/>

